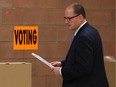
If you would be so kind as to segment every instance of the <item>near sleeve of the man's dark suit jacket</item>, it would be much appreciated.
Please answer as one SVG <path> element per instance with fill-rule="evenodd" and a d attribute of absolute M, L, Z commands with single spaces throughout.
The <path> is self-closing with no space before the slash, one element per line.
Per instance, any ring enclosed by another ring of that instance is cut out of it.
<path fill-rule="evenodd" d="M 61 69 L 63 79 L 71 80 L 81 78 L 91 73 L 93 67 L 92 41 L 82 36 L 78 38 L 74 46 L 75 63 L 71 67 L 64 66 Z"/>

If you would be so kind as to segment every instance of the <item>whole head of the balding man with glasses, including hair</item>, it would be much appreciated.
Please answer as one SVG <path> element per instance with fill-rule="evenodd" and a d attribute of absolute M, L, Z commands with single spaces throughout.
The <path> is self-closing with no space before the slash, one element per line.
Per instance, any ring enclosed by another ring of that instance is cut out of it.
<path fill-rule="evenodd" d="M 71 4 L 65 9 L 64 18 L 69 29 L 77 29 L 86 20 L 84 7 L 78 3 Z"/>

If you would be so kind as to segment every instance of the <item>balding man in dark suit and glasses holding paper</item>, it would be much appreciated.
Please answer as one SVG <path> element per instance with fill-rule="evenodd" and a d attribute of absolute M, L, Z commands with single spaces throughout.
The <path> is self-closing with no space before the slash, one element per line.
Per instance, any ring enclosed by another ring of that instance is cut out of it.
<path fill-rule="evenodd" d="M 62 76 L 62 87 L 109 87 L 99 33 L 86 21 L 85 10 L 78 3 L 65 10 L 65 23 L 75 30 L 64 61 L 54 61 L 52 71 Z"/>

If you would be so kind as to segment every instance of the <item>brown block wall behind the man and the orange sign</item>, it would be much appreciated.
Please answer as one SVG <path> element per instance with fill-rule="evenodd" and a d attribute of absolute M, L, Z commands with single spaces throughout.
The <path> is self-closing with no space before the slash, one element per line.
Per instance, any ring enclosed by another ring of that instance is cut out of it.
<path fill-rule="evenodd" d="M 64 24 L 64 8 L 75 1 L 85 6 L 87 20 L 99 30 L 104 56 L 116 56 L 115 0 L 0 0 L 0 61 L 32 63 L 32 87 L 61 87 L 62 79 L 54 76 L 31 53 L 35 52 L 48 61 L 65 58 L 72 32 Z M 39 26 L 38 50 L 13 50 L 15 25 Z"/>

